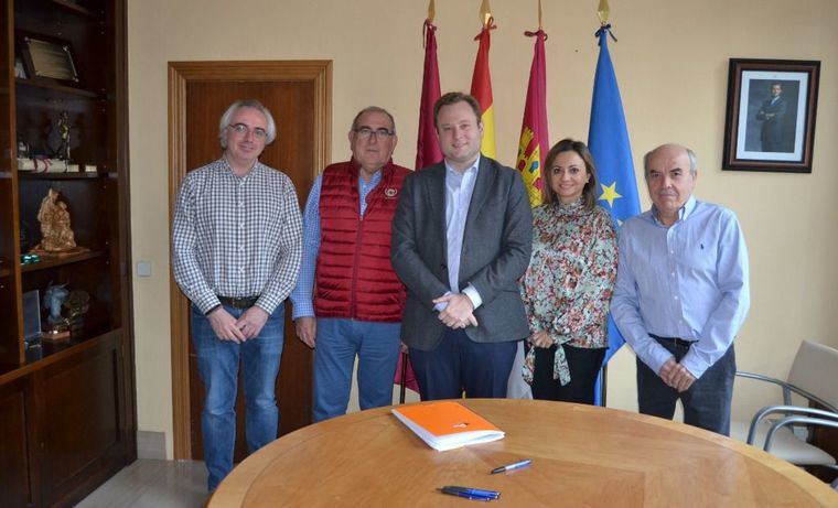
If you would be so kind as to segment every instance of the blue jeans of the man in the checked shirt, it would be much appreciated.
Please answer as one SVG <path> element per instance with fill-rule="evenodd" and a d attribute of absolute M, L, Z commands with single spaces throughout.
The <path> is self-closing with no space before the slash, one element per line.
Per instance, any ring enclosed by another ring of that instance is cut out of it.
<path fill-rule="evenodd" d="M 245 312 L 226 305 L 224 309 L 236 318 Z M 233 469 L 239 361 L 243 364 L 247 448 L 253 453 L 277 439 L 279 409 L 276 383 L 282 356 L 284 313 L 284 304 L 280 304 L 256 338 L 236 344 L 221 341 L 210 326 L 210 320 L 192 306 L 192 342 L 197 354 L 201 380 L 206 389 L 201 432 L 204 436 L 204 460 L 210 472 L 210 491 L 215 490 Z"/>

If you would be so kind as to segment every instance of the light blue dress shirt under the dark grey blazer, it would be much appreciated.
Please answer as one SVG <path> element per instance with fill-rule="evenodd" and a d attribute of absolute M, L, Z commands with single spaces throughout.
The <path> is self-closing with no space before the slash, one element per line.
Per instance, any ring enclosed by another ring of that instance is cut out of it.
<path fill-rule="evenodd" d="M 445 161 L 445 242 L 448 246 L 448 282 L 450 293 L 460 292 L 460 255 L 463 251 L 463 235 L 465 234 L 465 219 L 469 217 L 474 184 L 477 183 L 477 170 L 480 169 L 480 154 L 468 170 L 462 173 L 454 170 Z M 477 309 L 483 299 L 473 285 L 462 290 Z M 438 311 L 443 311 L 448 305 L 437 304 Z"/>

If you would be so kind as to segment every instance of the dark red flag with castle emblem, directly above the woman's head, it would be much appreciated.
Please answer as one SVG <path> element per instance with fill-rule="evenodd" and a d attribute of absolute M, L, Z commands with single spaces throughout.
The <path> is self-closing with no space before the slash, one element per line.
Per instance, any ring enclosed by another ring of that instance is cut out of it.
<path fill-rule="evenodd" d="M 536 37 L 533 65 L 529 69 L 527 101 L 524 106 L 524 121 L 520 126 L 517 167 L 529 194 L 529 204 L 541 204 L 541 170 L 544 158 L 550 150 L 547 134 L 547 65 L 545 63 L 544 43 L 547 34 L 541 29 L 525 32 L 528 37 Z"/>

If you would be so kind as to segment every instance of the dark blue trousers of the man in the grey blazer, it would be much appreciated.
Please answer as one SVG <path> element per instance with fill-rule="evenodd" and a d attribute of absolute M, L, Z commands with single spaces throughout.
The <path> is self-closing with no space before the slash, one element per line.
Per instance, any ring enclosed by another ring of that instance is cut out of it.
<path fill-rule="evenodd" d="M 518 343 L 475 343 L 462 329 L 448 329 L 436 349 L 410 348 L 422 400 L 505 398 Z"/>

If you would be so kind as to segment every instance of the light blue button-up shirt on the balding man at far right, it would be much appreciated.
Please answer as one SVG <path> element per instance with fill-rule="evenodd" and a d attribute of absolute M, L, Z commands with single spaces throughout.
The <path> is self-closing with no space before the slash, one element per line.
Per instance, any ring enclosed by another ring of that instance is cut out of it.
<path fill-rule="evenodd" d="M 750 306 L 748 249 L 737 216 L 694 196 L 670 227 L 653 207 L 620 228 L 611 314 L 658 372 L 673 355 L 649 337 L 695 341 L 680 364 L 696 378 L 728 350 Z"/>

